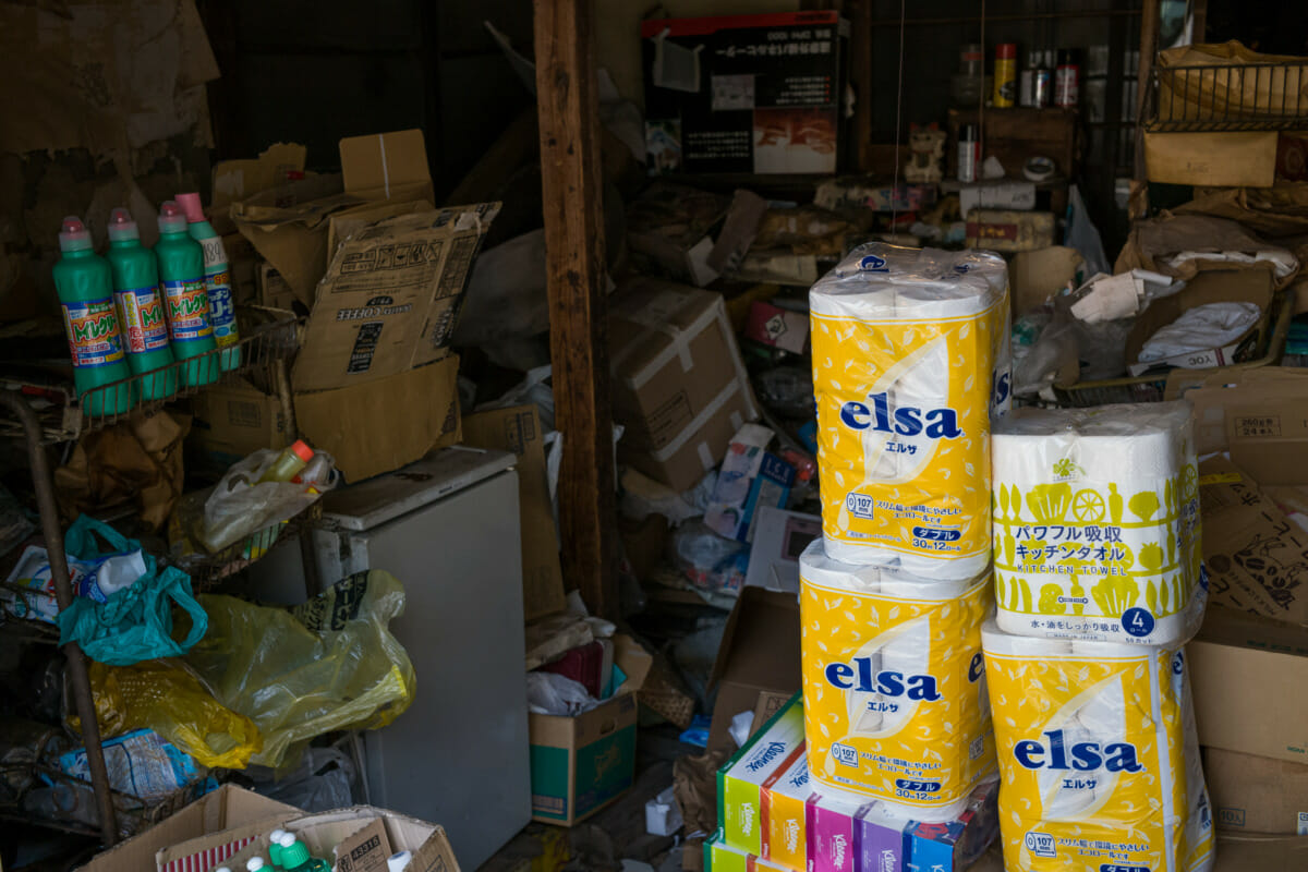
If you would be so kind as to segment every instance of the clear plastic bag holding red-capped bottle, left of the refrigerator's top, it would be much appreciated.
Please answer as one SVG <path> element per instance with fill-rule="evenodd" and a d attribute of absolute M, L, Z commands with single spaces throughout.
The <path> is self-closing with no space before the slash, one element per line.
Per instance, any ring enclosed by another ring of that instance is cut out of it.
<path fill-rule="evenodd" d="M 334 469 L 318 481 L 259 481 L 281 452 L 260 448 L 228 469 L 204 501 L 200 539 L 218 552 L 250 533 L 289 520 L 336 486 Z M 323 455 L 318 452 L 317 460 Z M 330 456 L 328 456 L 330 459 Z M 303 476 L 300 476 L 303 477 Z"/>

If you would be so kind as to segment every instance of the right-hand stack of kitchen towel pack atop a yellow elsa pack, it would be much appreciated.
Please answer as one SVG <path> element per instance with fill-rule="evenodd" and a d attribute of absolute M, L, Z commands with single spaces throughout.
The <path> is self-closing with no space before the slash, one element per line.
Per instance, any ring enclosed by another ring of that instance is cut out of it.
<path fill-rule="evenodd" d="M 1182 647 L 1207 599 L 1189 404 L 1023 411 L 991 451 L 1006 868 L 1211 868 Z"/>

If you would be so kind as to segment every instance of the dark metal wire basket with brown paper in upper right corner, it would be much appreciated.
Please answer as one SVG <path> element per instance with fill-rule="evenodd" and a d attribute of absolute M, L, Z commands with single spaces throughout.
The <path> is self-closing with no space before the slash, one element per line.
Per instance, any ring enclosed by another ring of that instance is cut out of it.
<path fill-rule="evenodd" d="M 1146 129 L 1308 129 L 1308 61 L 1154 67 Z"/>

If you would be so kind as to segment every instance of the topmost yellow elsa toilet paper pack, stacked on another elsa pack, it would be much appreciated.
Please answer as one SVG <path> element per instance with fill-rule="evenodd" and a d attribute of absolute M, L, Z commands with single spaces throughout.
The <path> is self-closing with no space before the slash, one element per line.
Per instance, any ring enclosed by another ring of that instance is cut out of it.
<path fill-rule="evenodd" d="M 1008 407 L 1007 271 L 870 243 L 810 292 L 832 557 L 968 579 L 990 560 L 990 416 Z"/>

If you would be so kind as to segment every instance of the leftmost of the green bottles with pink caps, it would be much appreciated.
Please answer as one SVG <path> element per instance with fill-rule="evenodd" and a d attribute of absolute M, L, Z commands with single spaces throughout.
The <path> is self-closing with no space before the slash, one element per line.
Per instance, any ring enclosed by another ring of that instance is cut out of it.
<path fill-rule="evenodd" d="M 93 390 L 132 377 L 123 354 L 109 261 L 92 250 L 90 231 L 72 214 L 59 230 L 59 250 L 63 255 L 55 264 L 55 290 L 63 305 L 82 412 L 90 417 L 122 414 L 135 404 L 129 384 L 111 391 Z"/>

